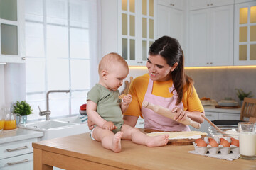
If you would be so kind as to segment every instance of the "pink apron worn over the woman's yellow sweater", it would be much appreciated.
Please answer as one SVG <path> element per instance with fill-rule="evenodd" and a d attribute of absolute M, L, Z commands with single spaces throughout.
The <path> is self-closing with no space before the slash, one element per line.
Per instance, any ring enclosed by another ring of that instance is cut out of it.
<path fill-rule="evenodd" d="M 152 89 L 153 81 L 149 79 L 149 84 L 144 97 L 144 101 L 148 101 L 149 103 L 152 103 L 154 105 L 163 106 L 164 108 L 169 108 L 169 110 L 172 110 L 174 107 L 179 107 L 182 109 L 184 108 L 182 102 L 178 104 L 178 106 L 176 106 L 178 94 L 176 90 L 174 90 L 174 84 L 169 88 L 170 93 L 172 91 L 172 93 L 174 94 L 171 98 L 155 96 L 152 94 Z M 145 121 L 144 128 L 161 131 L 190 131 L 188 125 L 183 125 L 176 122 L 175 120 L 166 118 L 163 115 L 154 113 L 154 111 L 149 108 L 142 107 L 142 115 Z"/>

